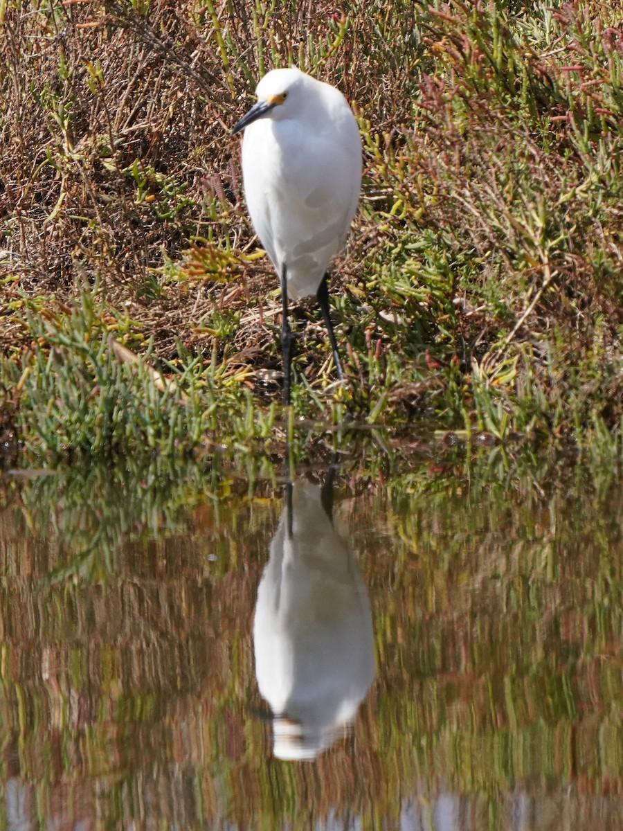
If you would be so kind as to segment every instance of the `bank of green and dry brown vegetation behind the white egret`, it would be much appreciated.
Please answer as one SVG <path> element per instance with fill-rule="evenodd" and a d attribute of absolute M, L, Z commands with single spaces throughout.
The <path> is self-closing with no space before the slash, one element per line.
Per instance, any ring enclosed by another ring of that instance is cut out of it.
<path fill-rule="evenodd" d="M 620 445 L 617 7 L 2 8 L 2 425 L 29 453 L 282 442 L 277 283 L 228 129 L 289 62 L 341 87 L 365 148 L 334 268 L 348 383 L 303 303 L 300 440 L 434 420 Z"/>

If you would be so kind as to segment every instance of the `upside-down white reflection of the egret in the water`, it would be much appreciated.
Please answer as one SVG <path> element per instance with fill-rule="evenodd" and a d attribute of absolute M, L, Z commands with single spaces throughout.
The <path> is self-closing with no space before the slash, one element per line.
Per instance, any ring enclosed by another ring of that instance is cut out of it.
<path fill-rule="evenodd" d="M 332 465 L 322 488 L 288 481 L 258 588 L 255 671 L 278 759 L 312 760 L 331 746 L 375 677 L 370 598 L 333 525 L 335 475 Z"/>

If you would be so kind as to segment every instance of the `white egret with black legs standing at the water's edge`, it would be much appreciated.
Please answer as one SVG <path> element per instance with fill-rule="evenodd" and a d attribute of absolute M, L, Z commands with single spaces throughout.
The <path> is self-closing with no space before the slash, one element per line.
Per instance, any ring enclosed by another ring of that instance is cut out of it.
<path fill-rule="evenodd" d="M 288 296 L 316 294 L 343 377 L 329 316 L 327 268 L 346 242 L 361 189 L 361 135 L 346 98 L 299 69 L 273 69 L 258 102 L 232 133 L 245 130 L 248 212 L 282 289 L 283 396 L 290 402 L 292 331 Z"/>

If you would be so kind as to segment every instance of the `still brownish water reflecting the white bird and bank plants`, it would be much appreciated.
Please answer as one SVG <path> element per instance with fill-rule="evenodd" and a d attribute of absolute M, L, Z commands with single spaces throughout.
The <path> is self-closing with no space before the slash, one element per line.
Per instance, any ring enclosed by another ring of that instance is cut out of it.
<path fill-rule="evenodd" d="M 241 466 L 2 479 L 0 828 L 623 829 L 621 480 Z"/>

